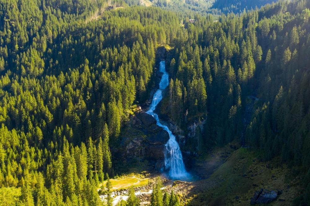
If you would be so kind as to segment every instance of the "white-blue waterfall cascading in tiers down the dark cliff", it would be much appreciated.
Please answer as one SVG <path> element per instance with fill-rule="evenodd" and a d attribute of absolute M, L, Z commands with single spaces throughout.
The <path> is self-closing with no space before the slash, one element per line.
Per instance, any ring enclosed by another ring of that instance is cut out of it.
<path fill-rule="evenodd" d="M 189 174 L 185 170 L 182 153 L 179 144 L 175 140 L 175 135 L 172 134 L 166 125 L 160 123 L 158 115 L 154 113 L 157 104 L 162 100 L 162 90 L 169 84 L 169 75 L 165 69 L 165 61 L 160 62 L 159 71 L 163 73 L 159 89 L 155 92 L 150 108 L 146 113 L 152 115 L 156 119 L 157 125 L 169 134 L 169 140 L 165 144 L 165 167 L 169 170 L 169 176 L 174 179 L 187 179 Z"/>

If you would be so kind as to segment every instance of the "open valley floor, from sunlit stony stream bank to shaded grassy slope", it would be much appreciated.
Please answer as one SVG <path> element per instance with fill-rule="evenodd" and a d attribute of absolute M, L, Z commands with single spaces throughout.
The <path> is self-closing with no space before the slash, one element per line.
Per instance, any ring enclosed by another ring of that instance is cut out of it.
<path fill-rule="evenodd" d="M 293 174 L 286 165 L 279 165 L 277 159 L 263 162 L 255 158 L 257 154 L 246 148 L 236 148 L 230 144 L 216 148 L 210 154 L 197 157 L 193 171 L 201 180 L 195 182 L 171 181 L 164 175 L 164 190 L 173 190 L 179 195 L 184 205 L 250 205 L 250 199 L 261 188 L 277 190 L 279 195 L 269 205 L 292 205 L 295 197 L 302 192 L 302 178 Z M 129 177 L 129 180 L 139 179 L 144 187 L 136 187 L 143 204 L 150 201 L 148 191 L 152 188 L 154 173 L 143 177 Z M 123 180 L 118 180 L 121 183 Z M 117 181 L 115 181 L 116 183 Z M 126 180 L 127 182 L 127 180 Z M 123 184 L 123 183 L 122 183 Z M 126 187 L 138 184 L 133 181 Z M 119 185 L 113 187 L 119 188 Z M 139 189 L 140 188 L 140 189 Z"/>

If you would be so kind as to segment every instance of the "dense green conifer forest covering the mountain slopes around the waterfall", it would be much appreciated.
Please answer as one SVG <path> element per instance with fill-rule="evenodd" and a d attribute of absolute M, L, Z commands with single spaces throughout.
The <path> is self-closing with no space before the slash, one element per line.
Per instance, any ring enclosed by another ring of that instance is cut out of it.
<path fill-rule="evenodd" d="M 244 2 L 1 1 L 0 205 L 112 205 L 130 166 L 113 151 L 152 99 L 160 47 L 162 117 L 185 133 L 206 122 L 185 148 L 276 158 L 303 178 L 292 204 L 310 205 L 310 1 Z M 151 205 L 180 204 L 156 182 Z"/>

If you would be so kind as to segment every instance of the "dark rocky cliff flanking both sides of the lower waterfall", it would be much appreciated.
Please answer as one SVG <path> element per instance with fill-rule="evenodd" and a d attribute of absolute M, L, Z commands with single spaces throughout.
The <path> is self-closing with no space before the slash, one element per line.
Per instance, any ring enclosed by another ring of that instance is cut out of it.
<path fill-rule="evenodd" d="M 199 139 L 205 123 L 206 118 L 202 121 L 189 122 L 187 130 L 183 131 L 173 122 L 166 122 L 176 136 L 187 166 L 193 164 L 189 161 L 191 157 L 198 155 Z M 165 144 L 169 139 L 169 134 L 162 127 L 157 126 L 156 120 L 151 115 L 141 109 L 136 111 L 129 117 L 120 138 L 121 147 L 118 147 L 118 151 L 115 152 L 119 158 L 148 160 L 155 165 L 156 170 L 164 168 Z"/>

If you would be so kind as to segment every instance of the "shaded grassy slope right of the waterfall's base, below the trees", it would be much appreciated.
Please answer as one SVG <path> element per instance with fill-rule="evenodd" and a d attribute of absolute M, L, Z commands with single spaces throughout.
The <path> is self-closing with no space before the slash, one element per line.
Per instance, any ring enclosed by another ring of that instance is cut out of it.
<path fill-rule="evenodd" d="M 301 178 L 291 175 L 291 170 L 286 165 L 279 165 L 278 160 L 262 162 L 255 156 L 245 148 L 232 152 L 209 179 L 201 181 L 206 185 L 215 182 L 215 186 L 206 188 L 189 205 L 249 205 L 251 197 L 260 188 L 283 191 L 269 205 L 291 205 L 299 196 Z"/>

